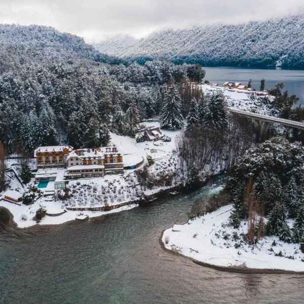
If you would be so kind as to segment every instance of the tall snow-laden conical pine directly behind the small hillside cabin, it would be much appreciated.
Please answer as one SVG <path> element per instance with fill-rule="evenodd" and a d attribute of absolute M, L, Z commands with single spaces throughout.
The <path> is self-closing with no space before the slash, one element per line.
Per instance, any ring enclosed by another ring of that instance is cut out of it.
<path fill-rule="evenodd" d="M 161 117 L 161 128 L 168 130 L 178 130 L 183 127 L 183 117 L 181 115 L 181 99 L 178 87 L 171 85 L 165 92 L 164 107 Z"/>

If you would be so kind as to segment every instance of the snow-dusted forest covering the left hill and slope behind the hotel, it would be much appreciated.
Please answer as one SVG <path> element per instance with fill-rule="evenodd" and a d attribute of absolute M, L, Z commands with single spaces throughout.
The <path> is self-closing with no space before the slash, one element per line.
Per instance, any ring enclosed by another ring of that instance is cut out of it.
<path fill-rule="evenodd" d="M 126 63 L 75 35 L 0 25 L 0 141 L 7 152 L 67 143 L 101 146 L 159 115 L 167 83 L 201 81 L 195 65 Z M 187 99 L 188 97 L 184 98 Z"/>

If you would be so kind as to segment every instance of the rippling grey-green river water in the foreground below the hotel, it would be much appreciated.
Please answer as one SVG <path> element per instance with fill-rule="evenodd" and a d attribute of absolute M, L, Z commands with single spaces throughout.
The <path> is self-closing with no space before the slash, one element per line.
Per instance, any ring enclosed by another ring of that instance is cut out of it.
<path fill-rule="evenodd" d="M 220 272 L 161 249 L 162 230 L 221 184 L 89 222 L 0 230 L 0 303 L 299 303 L 303 276 Z"/>

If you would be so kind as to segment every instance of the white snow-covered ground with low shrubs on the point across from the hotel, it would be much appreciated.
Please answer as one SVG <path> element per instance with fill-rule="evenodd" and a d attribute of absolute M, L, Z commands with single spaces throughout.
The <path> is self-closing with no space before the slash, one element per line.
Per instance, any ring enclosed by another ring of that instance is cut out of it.
<path fill-rule="evenodd" d="M 304 271 L 304 254 L 299 244 L 287 244 L 277 237 L 247 244 L 243 239 L 247 222 L 240 229 L 233 229 L 229 225 L 232 210 L 232 205 L 223 206 L 184 225 L 174 225 L 164 232 L 162 241 L 167 249 L 211 265 Z"/>

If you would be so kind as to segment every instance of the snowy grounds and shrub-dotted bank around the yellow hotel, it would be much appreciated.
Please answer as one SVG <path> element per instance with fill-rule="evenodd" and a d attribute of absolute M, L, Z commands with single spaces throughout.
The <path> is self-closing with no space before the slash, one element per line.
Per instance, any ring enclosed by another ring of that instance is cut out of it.
<path fill-rule="evenodd" d="M 159 127 L 159 122 L 144 122 L 147 127 Z M 119 136 L 111 133 L 111 142 L 115 144 L 123 154 L 124 165 L 135 165 L 142 160 L 146 161 L 149 155 L 155 163 L 149 167 L 149 173 L 155 177 L 162 173 L 177 172 L 179 170 L 178 157 L 175 151 L 175 137 L 180 134 L 179 131 L 162 130 L 162 133 L 172 138 L 171 142 L 140 142 L 137 143 L 134 138 Z M 151 150 L 152 149 L 152 150 Z M 20 172 L 20 164 L 18 160 L 9 160 L 7 167 L 14 168 L 16 172 Z M 62 169 L 61 169 L 62 170 Z M 24 193 L 30 184 L 34 183 L 34 179 L 29 184 L 23 185 L 16 179 L 13 172 L 7 173 L 7 179 L 10 180 L 11 189 L 17 189 L 20 193 Z M 49 182 L 52 183 L 52 182 Z M 44 207 L 49 214 L 62 213 L 66 208 L 90 208 L 103 207 L 105 204 L 112 206 L 122 203 L 138 200 L 142 195 L 155 194 L 163 189 L 170 188 L 175 185 L 175 181 L 171 185 L 156 184 L 151 188 L 142 188 L 137 179 L 136 170 L 125 170 L 124 174 L 105 175 L 100 178 L 84 178 L 77 180 L 69 180 L 68 187 L 71 189 L 72 197 L 67 200 L 59 200 L 55 196 L 46 196 L 39 198 L 30 206 L 18 206 L 13 203 L 1 200 L 3 193 L 0 193 L 0 206 L 11 211 L 14 221 L 18 227 L 28 227 L 35 225 L 33 220 L 37 209 Z M 113 209 L 111 211 L 70 211 L 59 216 L 46 216 L 39 224 L 60 224 L 75 219 L 76 217 L 88 215 L 89 217 L 100 216 L 107 213 L 119 212 L 134 208 L 136 205 L 124 206 Z"/>

